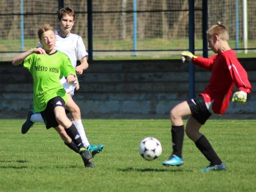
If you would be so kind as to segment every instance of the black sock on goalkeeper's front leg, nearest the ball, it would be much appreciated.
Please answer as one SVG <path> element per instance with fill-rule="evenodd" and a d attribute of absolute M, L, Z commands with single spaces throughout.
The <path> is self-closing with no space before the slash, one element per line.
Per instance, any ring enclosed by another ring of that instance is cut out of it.
<path fill-rule="evenodd" d="M 174 126 L 172 125 L 172 154 L 182 158 L 182 145 L 184 139 L 184 125 Z"/>

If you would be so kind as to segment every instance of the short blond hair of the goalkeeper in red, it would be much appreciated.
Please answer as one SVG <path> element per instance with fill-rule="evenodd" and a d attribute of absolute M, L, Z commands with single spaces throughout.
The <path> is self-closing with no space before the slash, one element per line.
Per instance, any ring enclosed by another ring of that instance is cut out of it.
<path fill-rule="evenodd" d="M 221 22 L 218 22 L 217 25 L 211 26 L 207 31 L 207 38 L 211 39 L 214 37 L 214 35 L 217 35 L 219 39 L 228 41 L 229 40 L 229 34 L 227 31 L 227 28 L 224 25 L 221 25 Z"/>

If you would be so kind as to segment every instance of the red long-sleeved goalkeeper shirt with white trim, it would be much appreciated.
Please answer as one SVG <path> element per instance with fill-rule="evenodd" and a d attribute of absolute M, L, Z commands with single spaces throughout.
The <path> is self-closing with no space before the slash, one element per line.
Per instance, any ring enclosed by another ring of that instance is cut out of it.
<path fill-rule="evenodd" d="M 212 71 L 209 85 L 200 93 L 211 113 L 224 114 L 227 111 L 234 85 L 239 91 L 251 93 L 247 72 L 232 49 L 209 59 L 198 57 L 192 62 Z"/>

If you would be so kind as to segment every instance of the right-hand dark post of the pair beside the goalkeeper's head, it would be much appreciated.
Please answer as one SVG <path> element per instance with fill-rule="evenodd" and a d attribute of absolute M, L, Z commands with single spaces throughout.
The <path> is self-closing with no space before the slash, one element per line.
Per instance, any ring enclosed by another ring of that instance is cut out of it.
<path fill-rule="evenodd" d="M 208 40 L 206 31 L 208 29 L 208 0 L 202 0 L 203 8 L 203 57 L 208 58 Z"/>

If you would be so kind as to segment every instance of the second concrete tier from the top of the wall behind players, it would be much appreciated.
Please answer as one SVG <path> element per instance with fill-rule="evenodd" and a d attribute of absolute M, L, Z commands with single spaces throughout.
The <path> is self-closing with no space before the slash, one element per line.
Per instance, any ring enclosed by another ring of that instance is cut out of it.
<path fill-rule="evenodd" d="M 208 82 L 211 77 L 210 72 L 195 73 L 195 81 Z M 251 82 L 256 81 L 256 71 L 248 72 L 248 77 Z M 189 73 L 85 73 L 79 75 L 80 83 L 87 82 L 188 82 Z M 2 82 L 9 83 L 32 83 L 30 74 L 5 74 L 2 77 Z"/>

